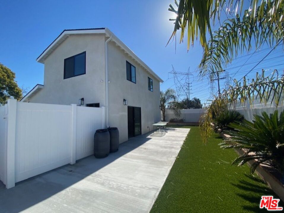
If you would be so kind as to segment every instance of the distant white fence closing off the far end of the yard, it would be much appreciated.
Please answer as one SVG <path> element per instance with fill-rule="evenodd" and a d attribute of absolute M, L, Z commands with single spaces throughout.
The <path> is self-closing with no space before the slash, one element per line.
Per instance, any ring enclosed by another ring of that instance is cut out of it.
<path fill-rule="evenodd" d="M 200 116 L 202 115 L 204 111 L 205 109 L 181 109 L 180 110 L 181 116 L 176 117 L 173 110 L 166 109 L 166 112 L 165 112 L 166 120 L 165 121 L 170 121 L 172 119 L 176 119 L 176 120 L 183 119 L 183 122 L 197 123 L 199 122 Z M 161 117 L 163 117 L 162 114 L 161 114 Z"/>

